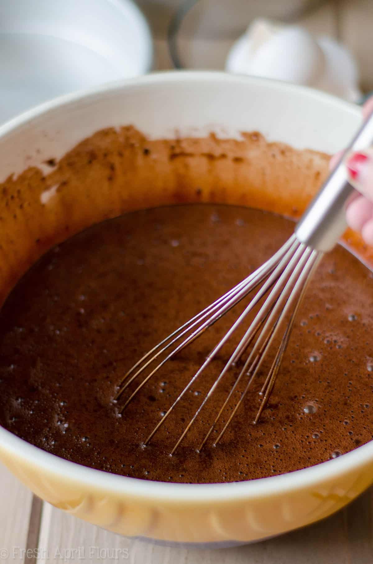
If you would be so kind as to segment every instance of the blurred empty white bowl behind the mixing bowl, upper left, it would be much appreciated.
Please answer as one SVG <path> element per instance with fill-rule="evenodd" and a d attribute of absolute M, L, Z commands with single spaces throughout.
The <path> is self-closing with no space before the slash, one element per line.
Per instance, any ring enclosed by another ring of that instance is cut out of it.
<path fill-rule="evenodd" d="M 152 67 L 132 0 L 0 0 L 0 123 L 45 100 Z"/>

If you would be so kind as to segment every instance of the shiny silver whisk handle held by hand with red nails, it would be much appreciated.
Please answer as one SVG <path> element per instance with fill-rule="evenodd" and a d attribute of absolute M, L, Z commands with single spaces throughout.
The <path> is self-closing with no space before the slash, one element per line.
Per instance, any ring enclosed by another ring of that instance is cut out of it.
<path fill-rule="evenodd" d="M 322 252 L 328 252 L 338 243 L 347 227 L 345 208 L 349 196 L 354 191 L 347 179 L 345 157 L 350 151 L 361 151 L 372 143 L 373 112 L 363 123 L 298 222 L 295 235 L 301 243 Z"/>

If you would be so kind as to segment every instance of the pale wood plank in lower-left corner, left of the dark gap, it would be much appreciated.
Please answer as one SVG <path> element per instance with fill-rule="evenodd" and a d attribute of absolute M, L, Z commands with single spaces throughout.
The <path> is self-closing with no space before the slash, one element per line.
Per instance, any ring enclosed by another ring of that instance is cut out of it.
<path fill-rule="evenodd" d="M 23 562 L 33 495 L 0 464 L 0 562 Z"/>

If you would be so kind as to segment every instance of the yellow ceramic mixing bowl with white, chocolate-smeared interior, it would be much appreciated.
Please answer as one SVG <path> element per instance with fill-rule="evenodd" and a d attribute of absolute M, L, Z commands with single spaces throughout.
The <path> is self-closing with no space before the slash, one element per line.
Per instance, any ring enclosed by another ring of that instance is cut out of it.
<path fill-rule="evenodd" d="M 0 299 L 51 245 L 126 210 L 214 201 L 299 215 L 327 174 L 325 153 L 360 121 L 357 107 L 321 92 L 206 72 L 153 74 L 33 109 L 0 128 Z M 3 428 L 0 459 L 86 521 L 201 546 L 308 525 L 373 481 L 373 442 L 291 474 L 224 484 L 101 472 Z"/>

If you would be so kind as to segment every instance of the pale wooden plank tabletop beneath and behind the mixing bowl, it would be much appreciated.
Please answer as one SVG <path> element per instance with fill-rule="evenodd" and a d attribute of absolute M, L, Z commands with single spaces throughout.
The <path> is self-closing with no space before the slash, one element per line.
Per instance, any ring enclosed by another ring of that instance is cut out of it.
<path fill-rule="evenodd" d="M 171 68 L 164 37 L 177 0 L 138 3 L 154 30 L 158 68 Z M 373 0 L 326 2 L 301 24 L 347 43 L 357 57 L 363 89 L 373 90 Z M 180 38 L 193 67 L 203 56 L 208 67 L 219 68 L 231 44 L 227 37 Z M 126 539 L 88 525 L 42 503 L 1 465 L 0 484 L 0 563 L 373 564 L 373 488 L 325 521 L 276 539 L 236 549 L 187 550 Z"/>

